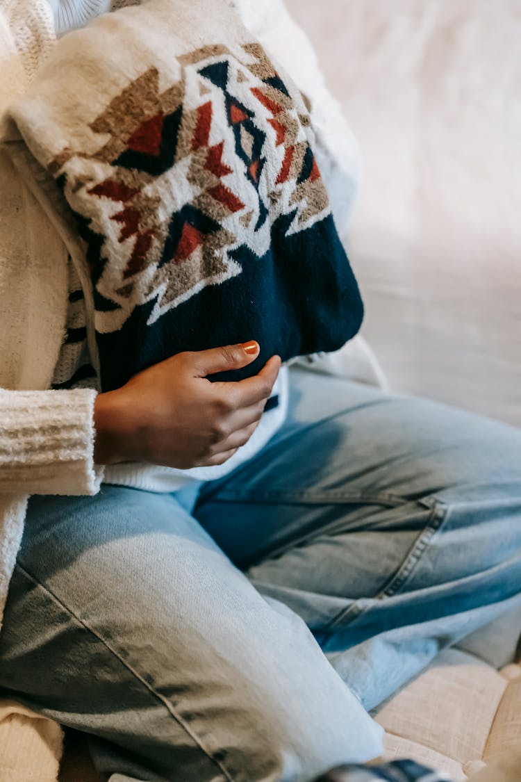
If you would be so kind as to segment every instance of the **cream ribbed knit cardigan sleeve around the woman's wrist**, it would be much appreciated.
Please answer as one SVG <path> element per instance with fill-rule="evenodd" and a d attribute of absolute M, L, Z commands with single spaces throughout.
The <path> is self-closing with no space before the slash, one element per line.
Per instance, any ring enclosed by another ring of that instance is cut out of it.
<path fill-rule="evenodd" d="M 0 389 L 0 493 L 95 494 L 91 389 Z"/>

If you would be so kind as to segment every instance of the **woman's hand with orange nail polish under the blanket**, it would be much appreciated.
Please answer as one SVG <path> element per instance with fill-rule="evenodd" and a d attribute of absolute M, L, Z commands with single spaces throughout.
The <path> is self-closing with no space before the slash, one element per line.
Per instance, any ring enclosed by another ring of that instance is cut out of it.
<path fill-rule="evenodd" d="M 206 376 L 240 369 L 257 343 L 177 353 L 95 401 L 95 461 L 148 461 L 187 469 L 222 465 L 252 436 L 280 369 L 273 356 L 238 382 Z"/>

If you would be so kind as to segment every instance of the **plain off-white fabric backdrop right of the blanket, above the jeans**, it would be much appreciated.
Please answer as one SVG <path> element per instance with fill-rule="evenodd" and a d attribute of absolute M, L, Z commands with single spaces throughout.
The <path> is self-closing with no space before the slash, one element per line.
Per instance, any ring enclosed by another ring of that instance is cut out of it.
<path fill-rule="evenodd" d="M 287 5 L 362 146 L 351 260 L 391 386 L 521 425 L 521 2 Z"/>

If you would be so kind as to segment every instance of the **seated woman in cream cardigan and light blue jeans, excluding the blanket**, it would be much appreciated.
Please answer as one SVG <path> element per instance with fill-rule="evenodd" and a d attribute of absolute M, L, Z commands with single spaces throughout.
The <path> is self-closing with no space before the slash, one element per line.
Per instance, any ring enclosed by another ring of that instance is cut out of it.
<path fill-rule="evenodd" d="M 5 93 L 52 48 L 45 3 L 6 8 Z M 92 11 L 67 9 L 69 27 Z M 310 780 L 379 755 L 365 709 L 519 604 L 519 432 L 277 356 L 209 382 L 255 341 L 97 393 L 88 285 L 9 165 L 13 221 L 20 195 L 40 234 L 23 284 L 26 236 L 2 269 L 3 693 L 91 734 L 113 782 Z"/>

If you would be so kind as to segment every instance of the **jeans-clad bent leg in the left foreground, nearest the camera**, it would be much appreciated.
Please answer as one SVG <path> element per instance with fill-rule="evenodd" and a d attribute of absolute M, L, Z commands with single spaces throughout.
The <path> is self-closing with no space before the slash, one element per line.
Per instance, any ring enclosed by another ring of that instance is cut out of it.
<path fill-rule="evenodd" d="M 0 687 L 98 737 L 114 782 L 305 782 L 380 752 L 302 619 L 261 597 L 171 495 L 30 500 Z"/>

